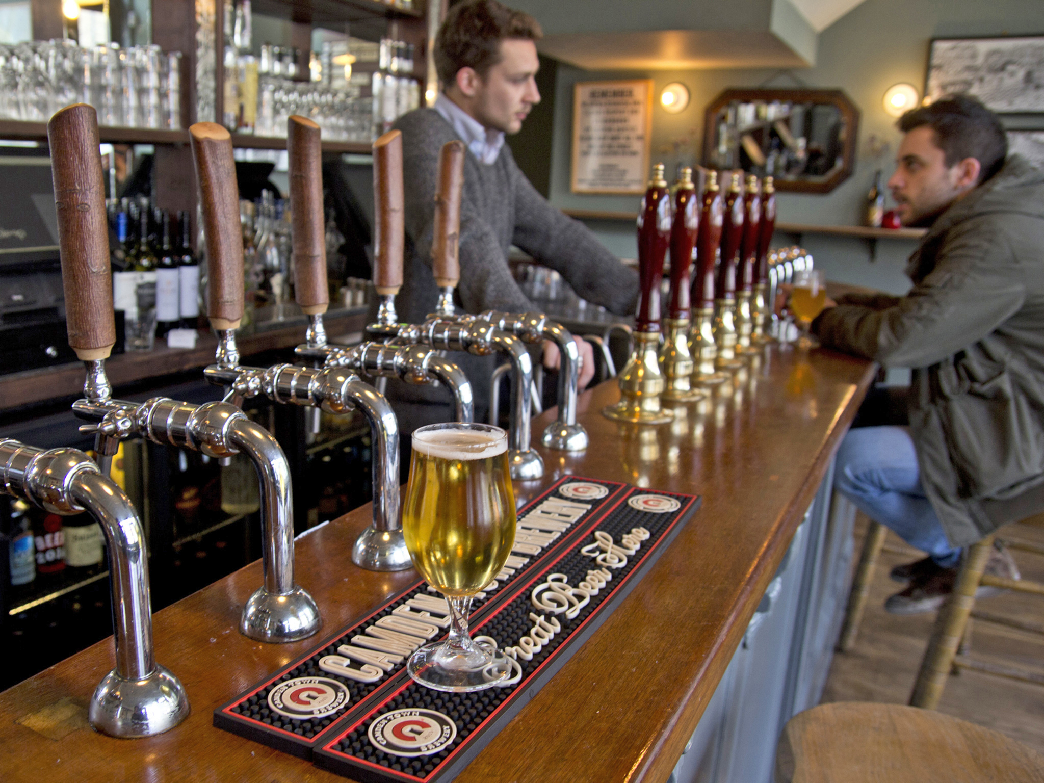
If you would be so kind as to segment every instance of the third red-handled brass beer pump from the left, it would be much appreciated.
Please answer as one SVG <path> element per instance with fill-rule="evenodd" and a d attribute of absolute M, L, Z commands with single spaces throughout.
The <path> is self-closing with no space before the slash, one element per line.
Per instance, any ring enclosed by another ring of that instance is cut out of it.
<path fill-rule="evenodd" d="M 692 280 L 692 329 L 689 354 L 692 356 L 692 385 L 712 386 L 728 375 L 717 369 L 717 345 L 714 342 L 715 263 L 721 243 L 725 203 L 717 184 L 717 171 L 707 172 L 707 185 L 701 198 L 699 230 L 696 235 L 696 274 Z"/>

